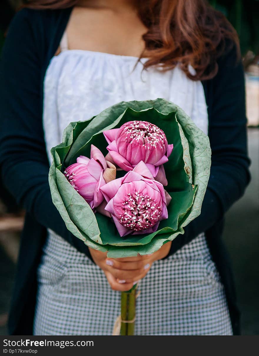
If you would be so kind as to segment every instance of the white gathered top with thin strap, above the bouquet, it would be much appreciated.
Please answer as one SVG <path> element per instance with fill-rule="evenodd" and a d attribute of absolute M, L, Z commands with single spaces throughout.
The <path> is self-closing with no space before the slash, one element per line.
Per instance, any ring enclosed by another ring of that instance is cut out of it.
<path fill-rule="evenodd" d="M 176 67 L 163 73 L 142 71 L 137 57 L 68 50 L 64 34 L 61 53 L 52 58 L 44 80 L 43 127 L 49 161 L 50 150 L 62 142 L 65 127 L 83 121 L 120 101 L 164 98 L 179 105 L 207 134 L 208 114 L 201 82 Z M 134 66 L 136 65 L 136 68 Z M 134 70 L 133 70 L 134 69 Z M 190 72 L 194 71 L 190 67 Z"/>

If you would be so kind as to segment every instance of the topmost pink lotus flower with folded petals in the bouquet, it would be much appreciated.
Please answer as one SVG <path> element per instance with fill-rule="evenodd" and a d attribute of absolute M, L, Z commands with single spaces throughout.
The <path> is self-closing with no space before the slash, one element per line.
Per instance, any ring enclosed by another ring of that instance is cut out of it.
<path fill-rule="evenodd" d="M 167 185 L 163 164 L 168 162 L 173 145 L 168 145 L 164 131 L 147 121 L 129 121 L 120 129 L 104 131 L 109 151 L 106 159 L 126 172 L 143 161 L 153 177 Z"/>

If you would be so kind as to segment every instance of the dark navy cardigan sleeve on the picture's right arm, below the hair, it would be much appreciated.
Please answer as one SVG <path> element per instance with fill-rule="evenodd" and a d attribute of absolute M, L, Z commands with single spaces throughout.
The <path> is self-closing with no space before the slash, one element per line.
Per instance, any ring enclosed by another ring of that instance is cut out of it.
<path fill-rule="evenodd" d="M 235 47 L 218 60 L 217 75 L 203 87 L 212 151 L 210 179 L 201 214 L 172 242 L 169 255 L 221 221 L 250 181 L 244 71 Z"/>

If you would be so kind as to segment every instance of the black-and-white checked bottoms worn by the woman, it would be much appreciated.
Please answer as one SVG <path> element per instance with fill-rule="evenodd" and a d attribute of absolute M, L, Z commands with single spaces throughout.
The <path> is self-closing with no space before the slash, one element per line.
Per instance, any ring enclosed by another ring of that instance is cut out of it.
<path fill-rule="evenodd" d="M 112 334 L 120 292 L 52 231 L 37 276 L 34 335 Z M 136 335 L 232 335 L 224 288 L 204 234 L 153 263 L 138 288 Z"/>

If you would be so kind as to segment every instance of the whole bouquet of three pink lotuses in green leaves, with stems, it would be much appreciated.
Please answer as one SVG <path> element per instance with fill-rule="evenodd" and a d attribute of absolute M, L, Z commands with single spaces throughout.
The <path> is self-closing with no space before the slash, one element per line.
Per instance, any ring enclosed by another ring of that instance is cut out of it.
<path fill-rule="evenodd" d="M 54 205 L 69 231 L 108 257 L 153 253 L 200 214 L 209 140 L 169 101 L 121 102 L 72 122 L 51 153 Z M 135 292 L 122 293 L 121 335 L 133 334 Z"/>

